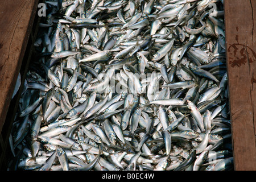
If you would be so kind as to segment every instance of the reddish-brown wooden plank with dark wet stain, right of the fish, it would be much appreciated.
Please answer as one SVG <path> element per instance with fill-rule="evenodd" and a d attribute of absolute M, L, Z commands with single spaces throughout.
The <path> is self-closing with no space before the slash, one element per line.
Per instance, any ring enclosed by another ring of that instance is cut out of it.
<path fill-rule="evenodd" d="M 256 1 L 224 2 L 234 169 L 255 171 Z"/>

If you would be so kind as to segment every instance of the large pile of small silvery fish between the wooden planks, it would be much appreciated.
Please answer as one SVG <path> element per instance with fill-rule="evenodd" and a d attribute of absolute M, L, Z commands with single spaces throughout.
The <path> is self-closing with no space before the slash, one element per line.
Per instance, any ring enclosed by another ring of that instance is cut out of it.
<path fill-rule="evenodd" d="M 9 170 L 233 170 L 223 3 L 46 1 Z"/>

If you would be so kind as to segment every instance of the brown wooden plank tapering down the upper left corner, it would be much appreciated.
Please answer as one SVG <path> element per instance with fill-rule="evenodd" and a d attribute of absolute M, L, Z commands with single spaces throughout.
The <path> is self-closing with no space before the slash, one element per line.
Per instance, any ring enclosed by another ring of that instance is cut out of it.
<path fill-rule="evenodd" d="M 6 119 L 38 1 L 2 1 L 0 6 L 0 133 Z"/>

